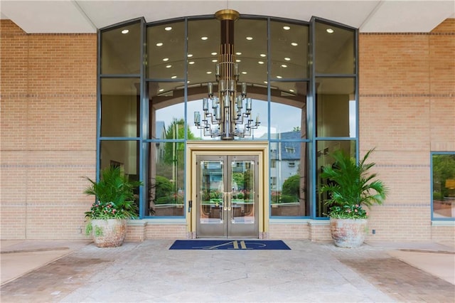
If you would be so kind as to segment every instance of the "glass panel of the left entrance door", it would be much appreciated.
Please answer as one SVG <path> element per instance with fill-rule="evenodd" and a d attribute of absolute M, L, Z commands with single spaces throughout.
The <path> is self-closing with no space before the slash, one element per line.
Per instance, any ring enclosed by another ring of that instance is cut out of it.
<path fill-rule="evenodd" d="M 223 161 L 200 163 L 200 223 L 223 223 L 224 173 Z"/>

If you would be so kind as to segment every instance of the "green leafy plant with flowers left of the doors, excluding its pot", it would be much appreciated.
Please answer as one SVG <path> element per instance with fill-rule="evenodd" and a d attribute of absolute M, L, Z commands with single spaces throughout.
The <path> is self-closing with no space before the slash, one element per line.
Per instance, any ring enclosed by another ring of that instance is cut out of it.
<path fill-rule="evenodd" d="M 134 201 L 134 189 L 142 185 L 141 181 L 129 181 L 129 178 L 119 166 L 109 166 L 101 171 L 99 181 L 85 177 L 90 186 L 84 193 L 96 196 L 90 211 L 85 212 L 89 219 L 129 219 L 135 218 L 137 204 Z M 87 229 L 90 229 L 87 225 Z M 86 232 L 89 230 L 86 229 Z M 91 232 L 92 230 L 90 230 Z"/>

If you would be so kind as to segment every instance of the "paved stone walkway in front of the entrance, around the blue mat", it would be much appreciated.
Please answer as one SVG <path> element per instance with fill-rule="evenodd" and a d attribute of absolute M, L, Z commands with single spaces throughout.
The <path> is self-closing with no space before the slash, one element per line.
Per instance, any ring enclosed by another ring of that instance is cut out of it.
<path fill-rule="evenodd" d="M 455 302 L 454 243 L 370 243 L 346 249 L 306 240 L 285 242 L 291 250 L 168 250 L 173 240 L 124 243 L 120 248 L 2 241 L 0 299 Z M 26 260 L 20 254 L 38 260 L 51 253 L 53 260 L 43 259 L 43 266 L 16 270 L 11 277 L 11 268 Z M 4 280 L 8 268 L 10 278 Z"/>

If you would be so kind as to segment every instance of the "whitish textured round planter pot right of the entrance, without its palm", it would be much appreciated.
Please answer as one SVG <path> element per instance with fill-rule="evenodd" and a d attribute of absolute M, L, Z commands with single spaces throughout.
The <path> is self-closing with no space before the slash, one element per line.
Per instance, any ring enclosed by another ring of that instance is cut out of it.
<path fill-rule="evenodd" d="M 367 233 L 367 219 L 330 219 L 330 230 L 335 245 L 340 248 L 358 248 Z"/>

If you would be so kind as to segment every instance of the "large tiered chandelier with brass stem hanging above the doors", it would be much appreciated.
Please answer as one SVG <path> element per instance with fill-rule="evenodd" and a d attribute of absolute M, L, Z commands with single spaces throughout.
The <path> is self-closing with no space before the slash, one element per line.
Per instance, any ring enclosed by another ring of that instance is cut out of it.
<path fill-rule="evenodd" d="M 215 80 L 218 96 L 214 95 L 213 83 L 208 83 L 208 97 L 203 98 L 203 119 L 200 112 L 194 112 L 194 124 L 203 129 L 204 136 L 233 140 L 234 137 L 250 137 L 252 129 L 259 127 L 259 116 L 253 124 L 251 119 L 252 100 L 247 98 L 247 84 L 241 84 L 237 92 L 239 65 L 235 61 L 234 22 L 239 13 L 223 9 L 215 13 L 221 23 L 221 43 L 218 63 L 215 65 Z M 209 108 L 210 107 L 210 108 Z"/>

